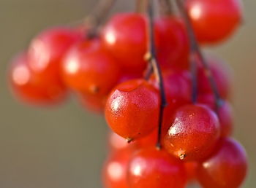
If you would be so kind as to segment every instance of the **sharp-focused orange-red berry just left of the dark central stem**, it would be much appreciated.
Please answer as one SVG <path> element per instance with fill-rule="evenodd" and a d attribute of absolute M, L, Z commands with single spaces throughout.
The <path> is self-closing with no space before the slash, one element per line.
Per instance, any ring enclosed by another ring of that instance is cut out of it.
<path fill-rule="evenodd" d="M 159 119 L 159 93 L 146 80 L 133 79 L 110 93 L 105 118 L 119 136 L 132 141 L 151 133 Z"/>

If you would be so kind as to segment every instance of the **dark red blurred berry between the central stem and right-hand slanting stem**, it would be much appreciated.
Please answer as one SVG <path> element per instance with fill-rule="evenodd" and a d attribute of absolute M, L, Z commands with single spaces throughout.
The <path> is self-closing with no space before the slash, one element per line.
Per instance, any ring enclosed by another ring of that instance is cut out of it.
<path fill-rule="evenodd" d="M 188 68 L 189 39 L 184 23 L 177 17 L 156 20 L 159 47 L 157 57 L 163 68 Z"/>

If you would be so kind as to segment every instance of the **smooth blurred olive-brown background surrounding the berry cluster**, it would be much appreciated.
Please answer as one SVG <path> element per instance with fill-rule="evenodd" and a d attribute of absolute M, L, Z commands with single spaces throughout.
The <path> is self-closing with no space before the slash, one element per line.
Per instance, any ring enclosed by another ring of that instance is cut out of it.
<path fill-rule="evenodd" d="M 99 188 L 106 156 L 107 126 L 70 100 L 56 109 L 25 106 L 13 98 L 8 63 L 49 26 L 81 20 L 93 0 L 0 0 L 0 187 Z M 244 26 L 230 41 L 210 50 L 234 70 L 236 130 L 249 156 L 244 187 L 256 187 L 256 1 L 244 1 Z M 119 0 L 114 11 L 132 10 Z"/>

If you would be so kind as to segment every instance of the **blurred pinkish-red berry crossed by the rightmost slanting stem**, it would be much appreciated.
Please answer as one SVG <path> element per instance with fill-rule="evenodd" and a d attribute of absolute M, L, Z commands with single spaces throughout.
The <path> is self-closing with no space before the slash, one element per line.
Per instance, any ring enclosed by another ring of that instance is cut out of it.
<path fill-rule="evenodd" d="M 214 81 L 217 84 L 220 95 L 224 99 L 229 98 L 232 86 L 230 68 L 218 58 L 208 56 L 206 59 L 211 67 L 211 73 L 214 77 Z M 201 65 L 198 69 L 197 77 L 199 93 L 212 93 L 210 82 L 208 82 L 206 73 Z"/>

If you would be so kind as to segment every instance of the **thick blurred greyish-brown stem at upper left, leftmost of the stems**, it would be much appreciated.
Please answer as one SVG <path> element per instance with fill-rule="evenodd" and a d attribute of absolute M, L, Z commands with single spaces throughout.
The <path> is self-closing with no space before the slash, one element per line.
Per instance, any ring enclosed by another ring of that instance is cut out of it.
<path fill-rule="evenodd" d="M 97 6 L 92 10 L 91 15 L 86 17 L 86 25 L 89 26 L 87 37 L 89 39 L 97 36 L 97 31 L 116 0 L 99 0 Z"/>

